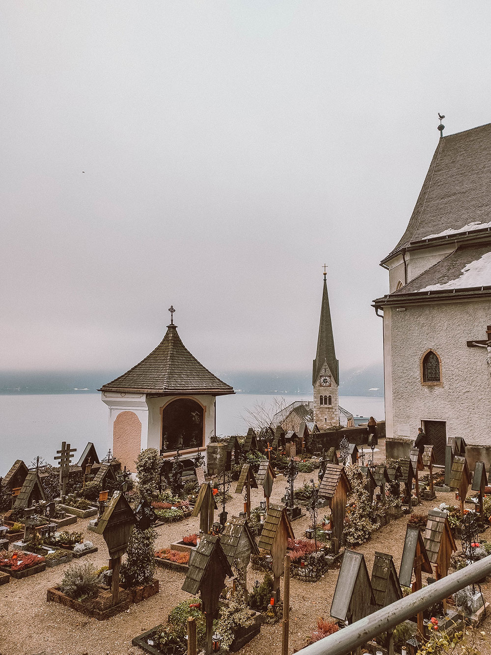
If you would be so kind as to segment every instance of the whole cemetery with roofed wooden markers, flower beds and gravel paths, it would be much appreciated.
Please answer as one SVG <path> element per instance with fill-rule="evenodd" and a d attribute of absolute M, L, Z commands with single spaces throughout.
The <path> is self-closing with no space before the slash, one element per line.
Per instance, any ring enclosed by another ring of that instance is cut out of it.
<path fill-rule="evenodd" d="M 35 584 L 38 607 L 67 638 L 88 618 L 81 652 L 100 639 L 132 654 L 280 652 L 285 631 L 297 651 L 491 553 L 486 466 L 471 471 L 455 444 L 439 491 L 429 449 L 386 460 L 383 441 L 375 450 L 341 440 L 316 455 L 292 434 L 264 434 L 270 441 L 253 430 L 223 441 L 233 457 L 212 476 L 200 458 L 190 472 L 155 449 L 129 476 L 90 443 L 79 470 L 66 443 L 60 466 L 14 462 L 0 487 L 7 610 L 12 585 L 22 608 Z M 64 513 L 76 523 L 60 525 Z M 416 653 L 430 625 L 486 625 L 486 588 L 481 580 L 418 612 L 366 652 Z"/>

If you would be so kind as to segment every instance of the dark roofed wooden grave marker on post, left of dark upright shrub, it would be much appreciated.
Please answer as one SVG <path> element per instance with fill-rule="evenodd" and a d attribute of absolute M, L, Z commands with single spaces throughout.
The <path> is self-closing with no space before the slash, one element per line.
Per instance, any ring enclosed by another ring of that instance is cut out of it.
<path fill-rule="evenodd" d="M 109 569 L 113 571 L 111 578 L 113 605 L 117 605 L 119 599 L 121 557 L 126 553 L 130 534 L 136 522 L 137 518 L 128 500 L 120 491 L 115 491 L 96 528 L 96 533 L 104 537 L 111 557 Z"/>

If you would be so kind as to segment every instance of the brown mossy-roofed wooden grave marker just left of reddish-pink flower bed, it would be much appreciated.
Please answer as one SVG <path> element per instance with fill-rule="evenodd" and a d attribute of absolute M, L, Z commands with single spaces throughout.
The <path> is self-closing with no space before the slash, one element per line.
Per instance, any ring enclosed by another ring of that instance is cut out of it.
<path fill-rule="evenodd" d="M 295 539 L 295 534 L 293 534 L 288 512 L 285 506 L 271 503 L 257 546 L 259 550 L 263 550 L 272 557 L 273 597 L 276 602 L 280 600 L 280 577 L 284 571 L 289 539 Z"/>

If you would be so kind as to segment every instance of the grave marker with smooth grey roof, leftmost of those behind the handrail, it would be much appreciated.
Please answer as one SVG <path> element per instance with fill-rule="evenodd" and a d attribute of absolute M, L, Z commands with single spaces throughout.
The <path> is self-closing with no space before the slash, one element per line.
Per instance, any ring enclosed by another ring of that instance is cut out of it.
<path fill-rule="evenodd" d="M 376 610 L 372 583 L 363 553 L 346 549 L 336 582 L 331 616 L 353 624 Z"/>

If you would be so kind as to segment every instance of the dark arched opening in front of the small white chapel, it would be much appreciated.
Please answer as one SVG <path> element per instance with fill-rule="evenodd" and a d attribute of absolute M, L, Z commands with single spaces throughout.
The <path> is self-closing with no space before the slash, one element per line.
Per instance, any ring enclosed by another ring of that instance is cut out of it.
<path fill-rule="evenodd" d="M 162 409 L 163 453 L 204 445 L 204 409 L 191 398 L 177 398 Z"/>

